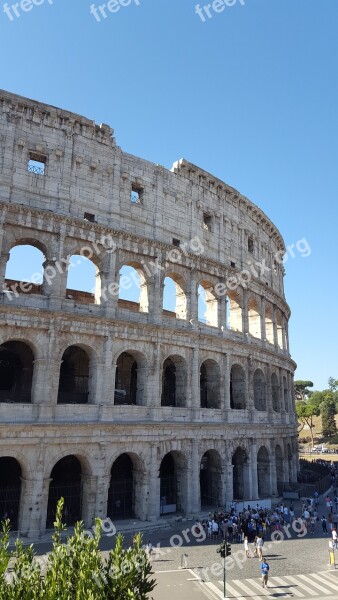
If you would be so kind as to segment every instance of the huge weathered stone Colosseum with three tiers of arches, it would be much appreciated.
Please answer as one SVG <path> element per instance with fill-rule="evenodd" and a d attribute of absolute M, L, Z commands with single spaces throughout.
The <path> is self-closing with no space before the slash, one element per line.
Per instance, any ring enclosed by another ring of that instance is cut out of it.
<path fill-rule="evenodd" d="M 291 489 L 274 224 L 186 160 L 123 152 L 108 125 L 5 91 L 0 104 L 0 517 L 34 537 L 61 495 L 68 523 L 90 526 Z M 87 290 L 72 283 L 84 265 Z"/>

